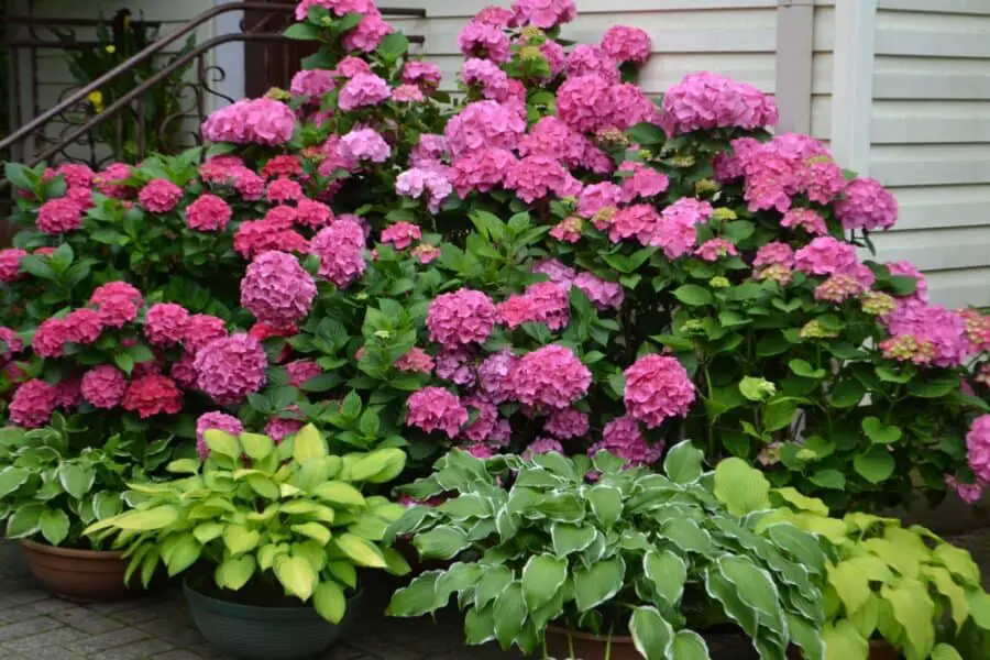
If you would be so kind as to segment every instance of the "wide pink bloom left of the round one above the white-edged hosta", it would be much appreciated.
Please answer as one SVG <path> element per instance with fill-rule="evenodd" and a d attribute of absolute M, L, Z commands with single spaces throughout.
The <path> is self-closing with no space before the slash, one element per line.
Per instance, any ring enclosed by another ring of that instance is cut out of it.
<path fill-rule="evenodd" d="M 522 355 L 512 375 L 513 398 L 535 408 L 569 408 L 587 394 L 591 372 L 571 349 L 549 344 Z"/>

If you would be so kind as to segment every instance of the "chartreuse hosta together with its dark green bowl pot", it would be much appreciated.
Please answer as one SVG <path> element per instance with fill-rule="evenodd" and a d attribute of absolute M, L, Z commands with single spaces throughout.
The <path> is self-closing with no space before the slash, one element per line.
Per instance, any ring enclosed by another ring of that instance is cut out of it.
<path fill-rule="evenodd" d="M 302 660 L 326 651 L 361 595 L 360 571 L 408 572 L 381 541 L 405 510 L 363 484 L 392 481 L 399 449 L 331 455 L 308 425 L 280 444 L 211 429 L 205 462 L 169 464 L 176 479 L 132 484 L 135 508 L 87 529 L 117 537 L 130 571 L 185 573 L 193 619 L 223 652 Z"/>

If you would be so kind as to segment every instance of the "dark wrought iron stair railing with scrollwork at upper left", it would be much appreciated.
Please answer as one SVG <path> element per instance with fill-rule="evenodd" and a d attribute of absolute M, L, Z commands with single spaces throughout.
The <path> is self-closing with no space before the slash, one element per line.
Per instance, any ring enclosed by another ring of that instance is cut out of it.
<path fill-rule="evenodd" d="M 148 130 L 154 130 L 157 134 L 166 134 L 169 130 L 174 130 L 175 124 L 187 127 L 185 129 L 185 140 L 183 146 L 193 146 L 201 142 L 198 128 L 208 112 L 216 106 L 216 100 L 233 102 L 235 99 L 222 92 L 219 86 L 227 79 L 228 73 L 219 65 L 211 62 L 211 56 L 223 44 L 243 43 L 243 44 L 285 44 L 286 48 L 294 47 L 299 42 L 283 36 L 284 29 L 292 23 L 293 4 L 267 3 L 267 2 L 231 2 L 213 7 L 187 23 L 165 33 L 160 38 L 152 42 L 141 52 L 129 57 L 111 70 L 91 82 L 80 85 L 78 87 L 68 87 L 61 96 L 59 101 L 40 112 L 35 112 L 35 117 L 25 121 L 23 125 L 14 130 L 10 135 L 0 140 L 0 157 L 9 157 L 10 160 L 19 160 L 35 165 L 41 162 L 59 162 L 75 161 L 87 162 L 94 167 L 111 160 L 123 160 L 124 153 L 132 158 L 138 160 L 144 157 L 148 152 Z M 421 9 L 392 9 L 381 8 L 385 16 L 392 18 L 425 18 L 426 12 Z M 208 40 L 198 43 L 191 50 L 174 56 L 167 65 L 162 66 L 142 80 L 125 94 L 108 102 L 100 112 L 86 112 L 84 109 L 88 106 L 89 95 L 100 89 L 107 88 L 119 77 L 127 75 L 133 67 L 144 65 L 152 62 L 155 57 L 168 54 L 169 47 L 175 47 L 183 40 L 194 34 L 197 30 L 215 22 L 218 16 L 231 12 L 242 12 L 243 16 L 240 22 L 240 30 L 228 34 L 217 34 Z M 8 25 L 28 25 L 31 28 L 51 23 L 47 19 L 37 19 L 32 16 L 7 16 Z M 78 22 L 80 25 L 84 22 Z M 67 24 L 66 22 L 62 23 Z M 94 22 L 88 22 L 92 25 Z M 409 36 L 411 43 L 422 43 L 421 36 Z M 29 33 L 29 38 L 8 38 L 6 47 L 13 51 L 18 48 L 38 50 L 64 47 L 62 42 L 53 42 L 52 40 L 40 38 L 34 34 L 33 30 Z M 91 44 L 79 44 L 78 47 L 91 47 Z M 277 58 L 277 64 L 287 75 L 290 75 L 295 68 L 298 68 L 298 58 L 295 61 L 288 55 L 288 51 L 279 52 L 276 48 L 264 48 L 267 58 Z M 267 75 L 271 69 L 271 63 L 261 63 Z M 176 72 L 189 68 L 194 75 L 191 78 L 186 76 L 180 82 L 176 84 L 176 95 L 182 99 L 179 107 L 174 112 L 168 113 L 156 121 L 155 125 L 148 127 L 145 118 L 147 117 L 148 107 L 147 98 L 150 91 L 156 86 L 166 81 L 173 81 Z M 258 63 L 252 63 L 252 72 L 257 74 Z M 16 68 L 16 67 L 15 67 Z M 32 76 L 36 76 L 36 69 L 32 68 Z M 14 87 L 19 80 L 14 79 Z M 32 80 L 32 85 L 36 87 L 37 81 Z M 128 117 L 136 117 L 134 122 L 136 127 L 124 125 L 124 113 Z M 97 129 L 102 129 L 106 134 L 106 127 L 113 128 L 110 131 L 111 139 L 109 144 L 101 144 L 101 150 L 94 148 L 92 135 Z M 53 132 L 54 129 L 54 132 Z M 127 129 L 127 130 L 125 130 Z M 133 131 L 132 129 L 136 129 Z M 124 139 L 127 133 L 129 140 Z M 127 144 L 125 144 L 127 142 Z M 82 148 L 80 148 L 82 147 Z M 6 155 L 6 156 L 4 156 Z M 9 182 L 2 178 L 0 174 L 0 197 L 9 194 Z"/>

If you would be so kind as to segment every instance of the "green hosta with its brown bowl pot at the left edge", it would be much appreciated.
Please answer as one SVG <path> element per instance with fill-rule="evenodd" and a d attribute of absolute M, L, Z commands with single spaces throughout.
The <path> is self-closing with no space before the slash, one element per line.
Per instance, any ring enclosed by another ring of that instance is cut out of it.
<path fill-rule="evenodd" d="M 73 447 L 65 419 L 25 431 L 0 430 L 0 521 L 21 539 L 31 573 L 56 596 L 76 602 L 127 597 L 127 560 L 84 536 L 87 525 L 124 506 L 131 465 L 105 447 Z"/>

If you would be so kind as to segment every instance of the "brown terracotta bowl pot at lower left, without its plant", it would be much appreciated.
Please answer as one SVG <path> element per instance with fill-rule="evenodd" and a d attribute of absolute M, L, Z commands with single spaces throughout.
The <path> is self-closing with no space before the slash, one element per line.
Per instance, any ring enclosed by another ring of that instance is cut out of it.
<path fill-rule="evenodd" d="M 31 540 L 21 541 L 28 568 L 59 598 L 75 603 L 105 603 L 134 596 L 124 584 L 128 560 L 111 550 L 74 550 Z"/>

